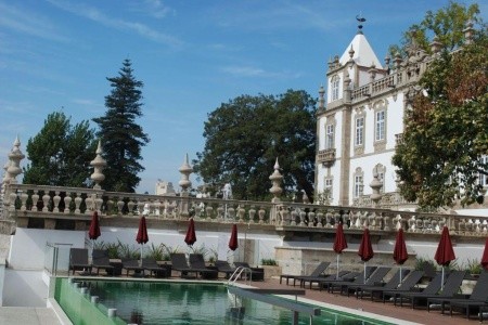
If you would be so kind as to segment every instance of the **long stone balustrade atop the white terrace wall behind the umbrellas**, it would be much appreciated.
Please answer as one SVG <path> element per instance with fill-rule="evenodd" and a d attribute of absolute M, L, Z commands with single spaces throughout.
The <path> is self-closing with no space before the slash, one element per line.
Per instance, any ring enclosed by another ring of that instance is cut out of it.
<path fill-rule="evenodd" d="M 97 210 L 101 218 L 146 216 L 153 220 L 195 220 L 213 223 L 252 223 L 277 231 L 322 232 L 342 220 L 358 233 L 372 232 L 438 234 L 448 225 L 453 234 L 487 236 L 488 217 L 422 213 L 371 207 L 323 206 L 298 203 L 251 202 L 188 196 L 144 195 L 102 190 L 11 184 L 4 197 L 3 221 L 44 218 L 70 219 L 88 225 Z M 386 197 L 387 195 L 385 195 Z M 391 198 L 389 198 L 391 200 Z"/>

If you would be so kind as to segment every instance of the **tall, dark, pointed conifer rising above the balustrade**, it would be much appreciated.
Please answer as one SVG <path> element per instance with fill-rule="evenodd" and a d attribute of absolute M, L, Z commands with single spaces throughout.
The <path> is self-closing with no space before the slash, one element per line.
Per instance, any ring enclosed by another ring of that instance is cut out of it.
<path fill-rule="evenodd" d="M 102 187 L 107 191 L 134 192 L 140 182 L 138 172 L 144 167 L 139 164 L 141 147 L 149 143 L 147 134 L 136 118 L 142 116 L 141 100 L 143 87 L 132 75 L 130 60 L 126 58 L 117 77 L 106 78 L 111 82 L 111 94 L 105 96 L 106 113 L 93 118 L 100 127 L 103 157 L 107 165 Z"/>

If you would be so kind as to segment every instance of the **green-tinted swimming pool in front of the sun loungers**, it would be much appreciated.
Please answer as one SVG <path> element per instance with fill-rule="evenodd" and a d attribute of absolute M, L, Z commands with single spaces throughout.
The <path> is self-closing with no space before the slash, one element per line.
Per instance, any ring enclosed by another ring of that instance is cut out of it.
<path fill-rule="evenodd" d="M 91 296 L 98 296 L 99 302 L 92 303 Z M 54 298 L 75 325 L 291 324 L 293 317 L 282 308 L 235 299 L 221 283 L 84 280 L 75 285 L 68 278 L 56 278 Z M 232 309 L 235 302 L 243 313 Z M 117 317 L 106 316 L 108 309 L 116 309 Z M 390 324 L 320 309 L 321 315 L 311 324 Z M 309 317 L 300 316 L 299 324 L 310 324 Z"/>

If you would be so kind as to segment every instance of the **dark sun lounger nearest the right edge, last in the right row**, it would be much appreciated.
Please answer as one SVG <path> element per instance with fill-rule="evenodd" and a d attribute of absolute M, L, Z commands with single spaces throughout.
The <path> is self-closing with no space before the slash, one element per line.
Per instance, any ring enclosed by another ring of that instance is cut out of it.
<path fill-rule="evenodd" d="M 473 288 L 468 298 L 445 298 L 436 297 L 427 299 L 427 311 L 431 311 L 431 304 L 440 304 L 440 311 L 444 313 L 446 304 L 449 304 L 449 311 L 452 316 L 453 310 L 461 310 L 466 312 L 466 317 L 470 320 L 470 315 L 473 310 L 477 310 L 479 314 L 479 321 L 483 322 L 484 308 L 488 308 L 488 272 L 483 272 Z"/>

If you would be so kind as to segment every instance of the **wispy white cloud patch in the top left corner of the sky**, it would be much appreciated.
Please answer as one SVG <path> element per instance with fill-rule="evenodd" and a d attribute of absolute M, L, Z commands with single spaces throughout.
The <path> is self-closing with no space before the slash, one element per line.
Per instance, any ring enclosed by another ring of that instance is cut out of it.
<path fill-rule="evenodd" d="M 27 34 L 43 39 L 68 41 L 62 36 L 54 24 L 44 16 L 30 12 L 25 8 L 17 8 L 0 2 L 0 26 L 16 32 Z"/>

